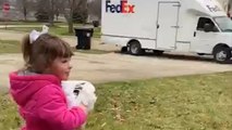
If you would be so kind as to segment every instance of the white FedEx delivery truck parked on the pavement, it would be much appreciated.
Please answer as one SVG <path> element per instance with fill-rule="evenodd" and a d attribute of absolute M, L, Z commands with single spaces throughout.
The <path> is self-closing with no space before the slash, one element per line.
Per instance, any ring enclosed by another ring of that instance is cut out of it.
<path fill-rule="evenodd" d="M 232 21 L 217 0 L 102 0 L 101 40 L 133 55 L 190 52 L 227 63 Z"/>

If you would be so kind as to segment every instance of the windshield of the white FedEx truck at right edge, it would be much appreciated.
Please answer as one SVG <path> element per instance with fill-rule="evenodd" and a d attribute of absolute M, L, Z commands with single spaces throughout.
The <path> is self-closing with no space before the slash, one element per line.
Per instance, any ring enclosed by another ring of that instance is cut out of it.
<path fill-rule="evenodd" d="M 222 16 L 222 17 L 215 17 L 213 18 L 218 26 L 221 28 L 221 31 L 224 32 L 232 32 L 232 21 L 229 17 Z"/>

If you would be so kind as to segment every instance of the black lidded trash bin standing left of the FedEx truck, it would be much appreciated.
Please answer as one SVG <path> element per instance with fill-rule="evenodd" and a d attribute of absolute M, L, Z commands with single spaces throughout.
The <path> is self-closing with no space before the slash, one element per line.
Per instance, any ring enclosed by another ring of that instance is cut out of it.
<path fill-rule="evenodd" d="M 91 37 L 94 35 L 93 27 L 74 28 L 77 37 L 76 49 L 89 50 L 91 48 Z"/>

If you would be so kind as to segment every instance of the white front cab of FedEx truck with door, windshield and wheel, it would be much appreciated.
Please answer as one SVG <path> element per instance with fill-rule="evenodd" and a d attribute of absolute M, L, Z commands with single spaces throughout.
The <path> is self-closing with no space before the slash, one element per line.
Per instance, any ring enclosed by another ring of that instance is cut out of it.
<path fill-rule="evenodd" d="M 219 63 L 231 58 L 232 21 L 227 16 L 198 17 L 192 51 L 212 54 Z"/>

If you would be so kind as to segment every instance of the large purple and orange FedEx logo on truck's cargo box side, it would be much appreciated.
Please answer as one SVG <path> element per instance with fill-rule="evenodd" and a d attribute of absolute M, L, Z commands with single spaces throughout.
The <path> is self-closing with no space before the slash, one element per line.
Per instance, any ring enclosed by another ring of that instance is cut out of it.
<path fill-rule="evenodd" d="M 106 12 L 110 13 L 135 13 L 135 5 L 129 4 L 127 0 L 121 0 L 120 4 L 112 4 L 110 0 L 106 1 Z"/>

